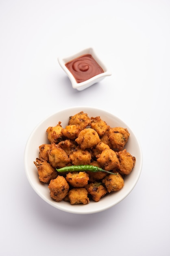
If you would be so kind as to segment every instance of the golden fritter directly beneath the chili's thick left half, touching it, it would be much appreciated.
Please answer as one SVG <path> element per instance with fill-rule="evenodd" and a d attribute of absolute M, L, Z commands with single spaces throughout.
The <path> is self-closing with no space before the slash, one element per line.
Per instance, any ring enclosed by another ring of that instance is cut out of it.
<path fill-rule="evenodd" d="M 86 172 L 67 173 L 65 180 L 75 188 L 83 187 L 88 184 L 89 175 Z"/>

